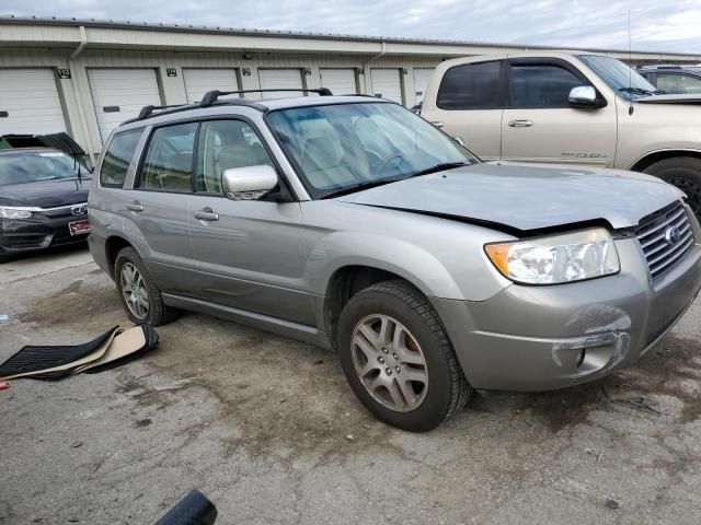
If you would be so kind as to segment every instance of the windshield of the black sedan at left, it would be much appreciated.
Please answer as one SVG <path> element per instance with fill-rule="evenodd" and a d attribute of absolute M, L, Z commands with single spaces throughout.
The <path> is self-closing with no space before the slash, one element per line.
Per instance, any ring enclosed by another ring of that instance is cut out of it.
<path fill-rule="evenodd" d="M 0 186 L 76 178 L 85 175 L 78 161 L 58 151 L 18 151 L 0 155 Z"/>

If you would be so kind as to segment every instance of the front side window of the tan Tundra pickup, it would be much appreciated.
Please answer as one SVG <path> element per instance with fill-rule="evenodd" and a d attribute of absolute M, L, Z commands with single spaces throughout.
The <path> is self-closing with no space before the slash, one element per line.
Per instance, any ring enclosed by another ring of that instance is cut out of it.
<path fill-rule="evenodd" d="M 573 72 L 554 65 L 512 66 L 512 107 L 570 107 L 570 92 L 584 85 Z"/>

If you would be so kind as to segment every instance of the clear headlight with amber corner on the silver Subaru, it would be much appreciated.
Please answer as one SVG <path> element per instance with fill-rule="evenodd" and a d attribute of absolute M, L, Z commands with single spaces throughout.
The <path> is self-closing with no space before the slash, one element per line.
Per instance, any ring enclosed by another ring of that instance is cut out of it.
<path fill-rule="evenodd" d="M 602 228 L 487 244 L 484 250 L 505 277 L 524 284 L 582 281 L 621 269 L 613 240 Z"/>

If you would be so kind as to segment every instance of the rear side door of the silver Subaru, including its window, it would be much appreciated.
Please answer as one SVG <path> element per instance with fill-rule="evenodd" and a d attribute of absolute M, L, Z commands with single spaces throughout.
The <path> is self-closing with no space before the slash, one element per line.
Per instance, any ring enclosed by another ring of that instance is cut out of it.
<path fill-rule="evenodd" d="M 125 233 L 143 249 L 164 292 L 189 293 L 195 270 L 187 234 L 196 122 L 154 128 L 126 202 Z"/>

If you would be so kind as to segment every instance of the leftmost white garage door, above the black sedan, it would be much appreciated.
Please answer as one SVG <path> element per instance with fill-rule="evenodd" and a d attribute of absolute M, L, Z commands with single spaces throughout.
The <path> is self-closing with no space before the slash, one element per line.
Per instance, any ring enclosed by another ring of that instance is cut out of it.
<path fill-rule="evenodd" d="M 66 131 L 53 69 L 0 69 L 0 135 Z"/>

